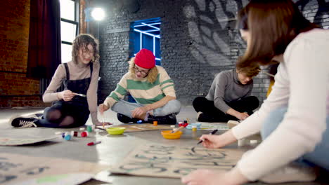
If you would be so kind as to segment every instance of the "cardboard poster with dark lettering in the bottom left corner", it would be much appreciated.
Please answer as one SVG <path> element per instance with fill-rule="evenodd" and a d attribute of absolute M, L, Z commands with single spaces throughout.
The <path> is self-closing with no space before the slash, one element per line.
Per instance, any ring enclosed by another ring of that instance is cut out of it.
<path fill-rule="evenodd" d="M 108 166 L 105 165 L 79 160 L 0 153 L 0 184 L 19 184 L 22 181 L 42 177 L 50 179 L 50 176 L 56 177 L 61 174 L 96 174 L 107 168 Z"/>

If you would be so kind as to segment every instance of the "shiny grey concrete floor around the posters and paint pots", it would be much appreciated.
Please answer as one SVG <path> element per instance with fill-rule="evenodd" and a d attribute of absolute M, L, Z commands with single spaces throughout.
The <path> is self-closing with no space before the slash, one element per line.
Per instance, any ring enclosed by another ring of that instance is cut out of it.
<path fill-rule="evenodd" d="M 29 108 L 29 109 L 0 109 L 0 137 L 14 137 L 14 136 L 38 136 L 48 137 L 53 135 L 54 132 L 63 131 L 63 129 L 55 128 L 22 128 L 14 129 L 8 123 L 9 118 L 14 114 L 31 114 L 41 113 L 43 109 Z M 193 107 L 183 107 L 181 113 L 177 116 L 178 121 L 186 120 L 189 118 L 191 123 L 195 123 L 196 113 Z M 105 121 L 120 124 L 117 121 L 116 114 L 112 111 L 105 113 Z M 87 124 L 91 124 L 91 120 Z M 69 129 L 79 130 L 79 129 Z M 64 130 L 65 131 L 65 130 Z M 88 138 L 75 139 L 72 142 L 65 142 L 65 140 L 58 138 L 51 144 L 35 144 L 29 146 L 0 146 L 1 152 L 16 153 L 29 156 L 42 156 L 42 157 L 55 157 L 55 158 L 68 158 L 74 160 L 82 160 L 93 163 L 101 163 L 103 165 L 114 165 L 120 160 L 124 159 L 129 151 L 134 149 L 138 144 L 146 142 L 157 142 L 158 144 L 169 144 L 176 146 L 193 146 L 196 144 L 198 137 L 209 131 L 199 131 L 196 135 L 191 130 L 185 130 L 181 139 L 164 139 L 159 130 L 146 131 L 146 132 L 126 132 L 120 137 L 111 137 L 105 132 L 100 134 L 91 134 Z M 220 134 L 220 132 L 219 132 Z M 253 139 L 259 139 L 255 137 Z M 86 147 L 86 143 L 101 141 L 95 147 Z M 237 144 L 227 146 L 228 148 L 238 148 Z M 252 146 L 243 146 L 240 149 L 251 149 Z M 102 176 L 100 176 L 102 177 Z M 103 174 L 103 177 L 108 177 L 112 184 L 117 185 L 130 185 L 130 184 L 181 184 L 180 179 L 167 179 L 167 178 L 151 178 L 151 177 L 134 177 L 129 175 L 111 175 Z M 84 184 L 106 184 L 103 181 L 91 180 Z M 262 184 L 255 182 L 251 184 Z M 290 183 L 293 184 L 293 183 Z M 301 183 L 298 183 L 301 184 Z M 323 180 L 314 183 L 305 184 L 327 184 Z"/>

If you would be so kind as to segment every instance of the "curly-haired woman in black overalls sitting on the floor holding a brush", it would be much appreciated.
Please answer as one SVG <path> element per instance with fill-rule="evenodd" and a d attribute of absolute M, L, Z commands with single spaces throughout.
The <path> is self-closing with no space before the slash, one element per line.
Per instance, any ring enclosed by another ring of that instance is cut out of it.
<path fill-rule="evenodd" d="M 98 41 L 89 34 L 77 36 L 73 41 L 72 61 L 58 66 L 43 95 L 44 102 L 53 102 L 53 105 L 44 109 L 41 118 L 14 116 L 11 125 L 75 128 L 84 125 L 89 114 L 94 125 L 102 125 L 97 118 L 98 58 Z M 65 90 L 56 92 L 61 83 Z"/>

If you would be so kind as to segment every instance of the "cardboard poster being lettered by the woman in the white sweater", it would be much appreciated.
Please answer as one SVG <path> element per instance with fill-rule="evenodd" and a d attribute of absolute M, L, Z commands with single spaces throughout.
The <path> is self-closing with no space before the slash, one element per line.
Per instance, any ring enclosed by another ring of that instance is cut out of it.
<path fill-rule="evenodd" d="M 231 170 L 243 153 L 238 149 L 143 144 L 131 151 L 122 162 L 110 167 L 109 171 L 137 176 L 180 178 L 199 168 Z"/>

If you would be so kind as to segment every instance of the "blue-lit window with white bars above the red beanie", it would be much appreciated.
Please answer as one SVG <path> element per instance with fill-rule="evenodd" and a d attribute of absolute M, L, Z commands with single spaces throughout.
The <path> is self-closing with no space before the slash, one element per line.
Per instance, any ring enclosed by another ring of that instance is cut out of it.
<path fill-rule="evenodd" d="M 142 48 L 151 50 L 155 55 L 157 65 L 161 64 L 160 24 L 160 18 L 138 20 L 132 23 L 134 55 Z"/>

